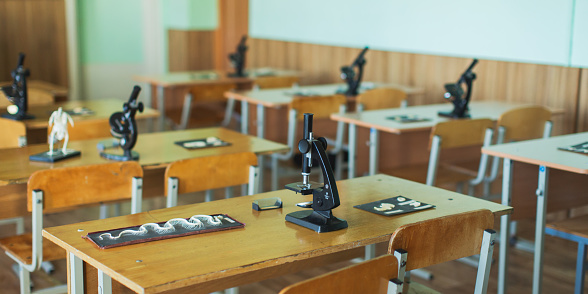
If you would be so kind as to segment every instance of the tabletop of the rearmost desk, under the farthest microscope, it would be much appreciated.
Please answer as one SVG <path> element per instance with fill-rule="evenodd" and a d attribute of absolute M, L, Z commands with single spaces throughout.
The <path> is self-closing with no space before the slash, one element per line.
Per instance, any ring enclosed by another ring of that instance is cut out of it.
<path fill-rule="evenodd" d="M 151 85 L 161 87 L 175 86 L 192 86 L 207 84 L 230 84 L 230 83 L 249 83 L 258 76 L 278 75 L 278 76 L 297 76 L 295 71 L 279 70 L 271 68 L 259 68 L 246 70 L 247 77 L 229 77 L 228 72 L 206 70 L 206 71 L 189 71 L 189 72 L 171 72 L 162 75 L 133 76 L 133 80 L 145 82 Z"/>

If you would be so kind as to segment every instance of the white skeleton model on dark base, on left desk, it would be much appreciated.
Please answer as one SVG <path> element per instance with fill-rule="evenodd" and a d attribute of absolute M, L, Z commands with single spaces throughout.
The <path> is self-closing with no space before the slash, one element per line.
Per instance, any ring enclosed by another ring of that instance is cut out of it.
<path fill-rule="evenodd" d="M 73 119 L 71 116 L 63 111 L 61 107 L 54 111 L 49 118 L 49 126 L 51 127 L 51 134 L 49 135 L 49 151 L 38 153 L 29 156 L 29 160 L 32 161 L 43 161 L 43 162 L 56 162 L 62 159 L 79 156 L 80 151 L 67 149 L 67 142 L 69 141 L 69 135 L 67 133 L 67 123 L 73 127 Z M 53 144 L 55 141 L 63 140 L 63 147 L 61 149 L 54 149 Z"/>

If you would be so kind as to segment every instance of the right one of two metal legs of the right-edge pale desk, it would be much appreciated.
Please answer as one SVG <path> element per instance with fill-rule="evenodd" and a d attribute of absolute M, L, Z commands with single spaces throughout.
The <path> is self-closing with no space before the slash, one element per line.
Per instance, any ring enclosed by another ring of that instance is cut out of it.
<path fill-rule="evenodd" d="M 545 214 L 547 212 L 547 178 L 549 169 L 539 166 L 539 183 L 537 184 L 537 218 L 535 220 L 535 256 L 533 261 L 533 293 L 541 293 L 543 276 L 543 241 L 545 240 Z"/>

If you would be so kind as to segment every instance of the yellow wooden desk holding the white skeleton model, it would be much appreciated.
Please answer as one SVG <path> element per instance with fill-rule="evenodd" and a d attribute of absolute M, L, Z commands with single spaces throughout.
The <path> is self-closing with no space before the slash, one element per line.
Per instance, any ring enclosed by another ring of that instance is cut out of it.
<path fill-rule="evenodd" d="M 174 142 L 190 139 L 218 137 L 231 145 L 215 148 L 204 148 L 187 150 Z M 69 158 L 55 163 L 29 161 L 29 155 L 37 154 L 48 150 L 47 144 L 29 145 L 22 148 L 3 149 L 0 152 L 0 215 L 4 209 L 19 209 L 26 215 L 27 181 L 32 173 L 38 170 L 59 167 L 82 166 L 109 162 L 100 157 L 96 145 L 105 140 L 90 139 L 70 142 L 69 149 L 82 152 L 81 156 Z M 288 147 L 247 136 L 235 131 L 223 128 L 203 128 L 185 131 L 169 131 L 162 133 L 139 134 L 139 139 L 134 151 L 139 152 L 139 163 L 143 166 L 143 197 L 162 196 L 164 173 L 169 163 L 193 158 L 237 152 L 254 152 L 257 155 L 270 154 L 273 152 L 285 152 Z"/>

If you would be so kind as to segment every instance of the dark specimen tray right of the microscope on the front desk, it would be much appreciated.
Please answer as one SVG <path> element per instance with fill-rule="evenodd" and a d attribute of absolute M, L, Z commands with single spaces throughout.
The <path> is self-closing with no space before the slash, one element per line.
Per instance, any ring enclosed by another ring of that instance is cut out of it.
<path fill-rule="evenodd" d="M 390 209 L 384 209 L 386 206 L 390 207 Z M 413 200 L 404 196 L 396 196 L 388 199 L 355 205 L 353 207 L 379 215 L 391 216 L 421 211 L 429 208 L 434 208 L 435 206 L 417 200 Z"/>

